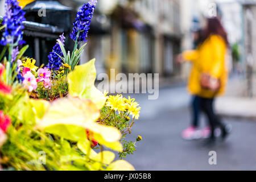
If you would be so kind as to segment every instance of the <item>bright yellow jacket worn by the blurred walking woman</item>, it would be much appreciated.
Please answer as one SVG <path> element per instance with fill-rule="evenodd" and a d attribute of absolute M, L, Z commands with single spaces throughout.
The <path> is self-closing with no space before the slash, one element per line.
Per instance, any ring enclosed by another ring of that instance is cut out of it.
<path fill-rule="evenodd" d="M 191 75 L 188 81 L 188 90 L 194 95 L 204 98 L 213 98 L 225 91 L 228 80 L 228 69 L 225 63 L 226 43 L 221 36 L 211 35 L 200 47 L 193 51 L 184 51 L 183 58 L 192 61 Z M 200 86 L 201 73 L 209 73 L 219 78 L 221 88 L 216 92 L 206 90 Z"/>

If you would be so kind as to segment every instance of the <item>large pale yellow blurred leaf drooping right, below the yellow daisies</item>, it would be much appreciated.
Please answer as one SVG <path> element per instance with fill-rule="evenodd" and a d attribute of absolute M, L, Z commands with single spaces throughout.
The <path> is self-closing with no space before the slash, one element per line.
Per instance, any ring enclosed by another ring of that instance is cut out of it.
<path fill-rule="evenodd" d="M 120 131 L 112 126 L 98 124 L 96 120 L 99 115 L 100 112 L 89 100 L 60 98 L 49 106 L 37 127 L 73 141 L 85 140 L 85 129 L 88 129 L 98 143 L 112 150 L 122 151 L 122 144 L 119 143 Z"/>

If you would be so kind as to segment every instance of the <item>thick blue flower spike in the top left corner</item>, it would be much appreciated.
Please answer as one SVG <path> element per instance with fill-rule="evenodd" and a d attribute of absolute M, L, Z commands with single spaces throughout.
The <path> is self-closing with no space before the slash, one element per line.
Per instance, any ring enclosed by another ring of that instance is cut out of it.
<path fill-rule="evenodd" d="M 24 26 L 22 22 L 26 19 L 24 18 L 25 11 L 19 6 L 17 0 L 6 0 L 5 1 L 5 16 L 3 17 L 3 24 L 5 27 L 5 32 L 3 32 L 3 38 L 0 41 L 2 46 L 6 44 L 23 44 L 23 32 Z"/>

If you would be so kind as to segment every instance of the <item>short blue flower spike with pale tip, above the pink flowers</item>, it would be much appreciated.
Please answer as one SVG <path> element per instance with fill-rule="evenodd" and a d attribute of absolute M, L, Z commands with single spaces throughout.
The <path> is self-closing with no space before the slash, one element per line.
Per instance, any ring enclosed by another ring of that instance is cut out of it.
<path fill-rule="evenodd" d="M 64 42 L 65 42 L 64 34 L 60 35 L 59 40 L 60 40 L 60 42 L 62 42 L 64 44 Z M 49 59 L 49 62 L 48 62 L 48 65 L 47 65 L 48 69 L 51 69 L 51 70 L 54 70 L 54 71 L 57 71 L 57 70 L 60 69 L 60 67 L 62 66 L 62 63 L 61 63 L 61 58 L 58 55 L 63 57 L 63 53 L 61 51 L 59 42 L 57 42 L 55 44 L 55 46 L 52 49 L 52 52 L 50 52 L 49 55 L 48 55 L 48 59 Z"/>

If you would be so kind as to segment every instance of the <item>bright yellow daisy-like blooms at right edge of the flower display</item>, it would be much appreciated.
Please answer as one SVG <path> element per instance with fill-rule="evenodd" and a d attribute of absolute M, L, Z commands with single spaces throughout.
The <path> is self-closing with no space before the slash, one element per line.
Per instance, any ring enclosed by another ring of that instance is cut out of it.
<path fill-rule="evenodd" d="M 107 97 L 106 106 L 110 107 L 114 111 L 127 111 L 133 118 L 138 119 L 141 107 L 138 107 L 139 104 L 135 102 L 134 98 L 123 97 L 122 95 L 117 94 L 117 96 Z"/>

